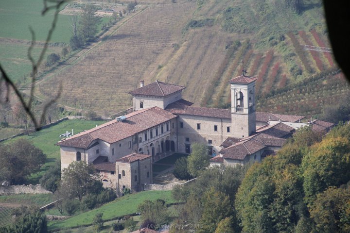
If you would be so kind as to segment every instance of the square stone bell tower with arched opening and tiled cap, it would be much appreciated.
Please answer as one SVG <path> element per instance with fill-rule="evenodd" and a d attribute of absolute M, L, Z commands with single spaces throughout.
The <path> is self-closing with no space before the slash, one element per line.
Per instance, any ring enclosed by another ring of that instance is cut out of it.
<path fill-rule="evenodd" d="M 244 74 L 228 81 L 231 89 L 232 136 L 243 138 L 255 132 L 255 81 Z"/>

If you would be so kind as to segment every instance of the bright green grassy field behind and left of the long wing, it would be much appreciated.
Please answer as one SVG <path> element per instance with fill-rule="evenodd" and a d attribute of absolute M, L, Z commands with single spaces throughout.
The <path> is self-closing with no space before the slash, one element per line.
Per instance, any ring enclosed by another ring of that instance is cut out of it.
<path fill-rule="evenodd" d="M 39 179 L 42 177 L 44 172 L 52 166 L 60 158 L 60 149 L 54 144 L 60 140 L 59 135 L 66 133 L 66 131 L 71 132 L 73 129 L 74 134 L 82 132 L 84 130 L 91 129 L 96 125 L 101 125 L 105 121 L 91 121 L 91 120 L 66 120 L 50 128 L 41 130 L 39 132 L 30 133 L 30 135 L 23 135 L 16 137 L 11 140 L 7 140 L 6 143 L 10 143 L 19 138 L 24 138 L 39 149 L 41 149 L 46 155 L 46 163 L 41 167 L 40 171 L 33 174 L 27 183 L 39 183 Z"/>

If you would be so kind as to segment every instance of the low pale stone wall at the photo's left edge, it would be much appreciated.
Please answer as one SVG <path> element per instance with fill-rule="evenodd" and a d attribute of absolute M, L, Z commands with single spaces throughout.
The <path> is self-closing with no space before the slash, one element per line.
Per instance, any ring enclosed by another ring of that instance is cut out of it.
<path fill-rule="evenodd" d="M 0 195 L 14 195 L 25 193 L 52 194 L 52 192 L 42 188 L 40 184 L 0 186 Z"/>

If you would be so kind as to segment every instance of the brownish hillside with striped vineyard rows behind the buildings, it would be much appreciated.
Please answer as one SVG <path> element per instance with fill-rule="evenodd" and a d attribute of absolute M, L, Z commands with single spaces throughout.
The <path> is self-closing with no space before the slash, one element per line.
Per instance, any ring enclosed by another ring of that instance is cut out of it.
<path fill-rule="evenodd" d="M 308 1 L 300 14 L 278 0 L 142 2 L 112 36 L 38 89 L 51 96 L 62 82 L 60 103 L 102 114 L 130 107 L 127 92 L 140 79 L 146 84 L 158 79 L 186 86 L 184 99 L 196 105 L 226 108 L 227 81 L 244 68 L 258 78 L 260 102 L 271 91 L 336 69 L 332 53 L 304 50 L 304 45 L 329 47 L 319 2 Z M 338 89 L 349 93 L 347 84 Z M 319 105 L 311 107 L 298 114 L 320 113 Z M 276 104 L 268 110 L 295 112 Z"/>

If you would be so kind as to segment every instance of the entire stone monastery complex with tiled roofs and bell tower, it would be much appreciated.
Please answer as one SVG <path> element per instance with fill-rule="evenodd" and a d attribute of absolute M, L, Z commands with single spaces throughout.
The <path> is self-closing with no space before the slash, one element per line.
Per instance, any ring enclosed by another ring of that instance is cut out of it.
<path fill-rule="evenodd" d="M 210 166 L 244 165 L 273 155 L 297 128 L 329 131 L 334 124 L 304 116 L 256 112 L 255 81 L 245 75 L 229 81 L 231 109 L 192 106 L 182 99 L 186 87 L 153 82 L 129 92 L 133 112 L 78 133 L 56 145 L 61 168 L 73 161 L 93 164 L 105 186 L 141 191 L 152 183 L 152 163 L 175 152 L 191 153 L 195 142 L 208 147 Z"/>

